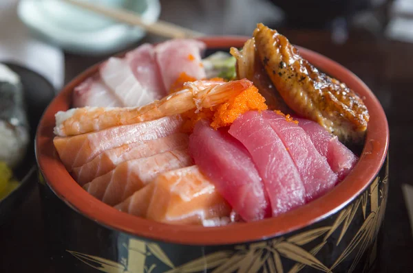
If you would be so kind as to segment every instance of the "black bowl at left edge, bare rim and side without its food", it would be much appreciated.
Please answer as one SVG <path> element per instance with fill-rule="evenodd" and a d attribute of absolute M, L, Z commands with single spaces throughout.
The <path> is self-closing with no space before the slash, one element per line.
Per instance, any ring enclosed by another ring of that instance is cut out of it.
<path fill-rule="evenodd" d="M 19 206 L 36 185 L 37 168 L 34 157 L 34 134 L 43 111 L 55 95 L 54 87 L 42 75 L 14 62 L 2 63 L 6 64 L 14 73 L 17 73 L 21 79 L 30 126 L 30 144 L 23 161 L 13 169 L 14 176 L 19 180 L 19 186 L 0 200 L 0 225 L 6 223 L 14 212 L 19 209 Z"/>

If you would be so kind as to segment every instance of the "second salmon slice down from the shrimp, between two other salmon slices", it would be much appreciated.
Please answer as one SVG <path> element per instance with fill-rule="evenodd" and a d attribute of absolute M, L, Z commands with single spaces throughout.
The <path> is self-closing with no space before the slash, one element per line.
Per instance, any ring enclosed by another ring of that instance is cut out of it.
<path fill-rule="evenodd" d="M 171 150 L 187 149 L 189 137 L 184 133 L 170 134 L 167 137 L 145 141 L 144 143 L 130 143 L 100 153 L 92 161 L 81 167 L 75 167 L 72 176 L 83 186 L 98 176 L 107 174 L 125 161 L 142 157 L 153 156 Z"/>

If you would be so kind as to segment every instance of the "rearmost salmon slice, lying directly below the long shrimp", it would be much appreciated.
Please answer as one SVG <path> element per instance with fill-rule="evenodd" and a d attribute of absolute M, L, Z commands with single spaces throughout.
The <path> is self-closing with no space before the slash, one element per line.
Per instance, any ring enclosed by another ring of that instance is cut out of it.
<path fill-rule="evenodd" d="M 182 124 L 183 120 L 180 116 L 163 117 L 154 121 L 117 126 L 74 137 L 55 137 L 53 143 L 63 165 L 68 171 L 72 171 L 74 167 L 84 165 L 105 150 L 180 132 Z"/>

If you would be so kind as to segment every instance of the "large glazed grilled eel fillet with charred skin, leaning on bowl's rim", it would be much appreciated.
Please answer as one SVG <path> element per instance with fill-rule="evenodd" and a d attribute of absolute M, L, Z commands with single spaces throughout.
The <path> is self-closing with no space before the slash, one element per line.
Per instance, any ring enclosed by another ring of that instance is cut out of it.
<path fill-rule="evenodd" d="M 260 23 L 253 36 L 266 72 L 291 109 L 317 121 L 340 141 L 363 141 L 370 117 L 354 91 L 301 58 L 277 31 Z"/>

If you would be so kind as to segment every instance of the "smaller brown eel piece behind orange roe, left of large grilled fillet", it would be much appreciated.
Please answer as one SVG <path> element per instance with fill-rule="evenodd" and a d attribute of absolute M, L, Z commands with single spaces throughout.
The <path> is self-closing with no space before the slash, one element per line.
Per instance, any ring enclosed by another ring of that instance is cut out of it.
<path fill-rule="evenodd" d="M 242 51 L 231 47 L 230 53 L 237 59 L 237 78 L 251 80 L 265 98 L 265 102 L 270 109 L 281 110 L 286 114 L 292 112 L 279 95 L 273 82 L 268 78 L 255 49 L 254 38 L 245 42 Z"/>

